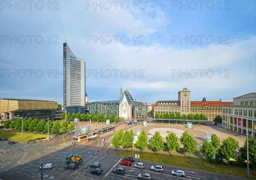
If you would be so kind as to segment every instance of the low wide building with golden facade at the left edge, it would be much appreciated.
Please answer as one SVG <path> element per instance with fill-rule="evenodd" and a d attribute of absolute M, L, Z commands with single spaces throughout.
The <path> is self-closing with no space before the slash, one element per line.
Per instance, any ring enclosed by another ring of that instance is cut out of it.
<path fill-rule="evenodd" d="M 7 119 L 20 118 L 54 119 L 58 102 L 34 99 L 0 99 L 0 128 Z"/>

